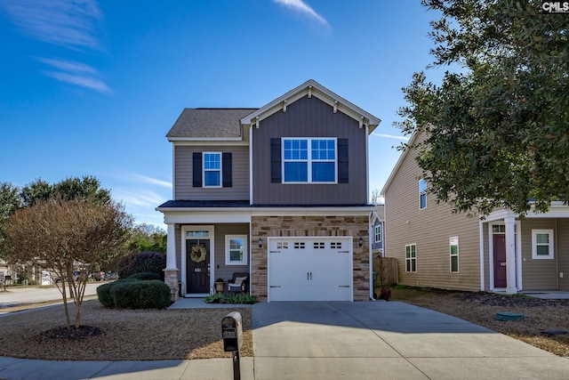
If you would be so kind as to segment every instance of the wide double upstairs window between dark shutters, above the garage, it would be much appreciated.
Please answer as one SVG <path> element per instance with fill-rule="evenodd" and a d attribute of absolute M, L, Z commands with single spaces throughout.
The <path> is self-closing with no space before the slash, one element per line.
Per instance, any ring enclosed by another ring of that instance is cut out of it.
<path fill-rule="evenodd" d="M 283 139 L 285 183 L 335 183 L 336 172 L 336 139 Z"/>

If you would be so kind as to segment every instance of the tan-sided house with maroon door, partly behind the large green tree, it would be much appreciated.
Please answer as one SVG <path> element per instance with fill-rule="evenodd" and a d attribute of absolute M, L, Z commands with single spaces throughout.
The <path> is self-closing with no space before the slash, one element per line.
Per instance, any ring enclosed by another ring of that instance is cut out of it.
<path fill-rule="evenodd" d="M 413 135 L 411 143 L 421 139 Z M 386 245 L 399 283 L 464 290 L 569 290 L 569 207 L 525 218 L 500 209 L 481 221 L 437 204 L 421 179 L 417 150 L 405 150 L 382 190 Z"/>

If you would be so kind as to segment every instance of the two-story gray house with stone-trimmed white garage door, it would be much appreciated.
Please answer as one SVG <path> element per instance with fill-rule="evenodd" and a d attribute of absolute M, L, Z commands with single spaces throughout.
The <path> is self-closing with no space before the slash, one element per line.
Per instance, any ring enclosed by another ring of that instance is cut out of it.
<path fill-rule="evenodd" d="M 260 301 L 367 300 L 368 135 L 380 123 L 313 80 L 260 109 L 184 109 L 167 134 L 165 282 L 184 296 L 250 274 Z"/>

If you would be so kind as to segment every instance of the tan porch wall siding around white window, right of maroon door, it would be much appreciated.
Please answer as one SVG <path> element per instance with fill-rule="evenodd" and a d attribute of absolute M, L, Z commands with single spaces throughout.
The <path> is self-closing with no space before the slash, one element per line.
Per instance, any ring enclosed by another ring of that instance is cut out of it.
<path fill-rule="evenodd" d="M 524 290 L 557 289 L 557 257 L 559 247 L 555 244 L 558 231 L 556 219 L 525 218 L 522 230 L 522 286 Z M 532 230 L 553 230 L 553 259 L 532 258 Z"/>

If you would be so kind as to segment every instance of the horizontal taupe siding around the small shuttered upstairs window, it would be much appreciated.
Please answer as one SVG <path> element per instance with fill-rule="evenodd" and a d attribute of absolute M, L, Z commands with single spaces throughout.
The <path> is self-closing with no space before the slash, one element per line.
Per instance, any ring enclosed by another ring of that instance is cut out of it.
<path fill-rule="evenodd" d="M 174 144 L 174 199 L 176 200 L 248 200 L 249 147 L 198 146 Z M 232 186 L 226 188 L 193 187 L 194 152 L 231 152 Z"/>

